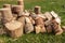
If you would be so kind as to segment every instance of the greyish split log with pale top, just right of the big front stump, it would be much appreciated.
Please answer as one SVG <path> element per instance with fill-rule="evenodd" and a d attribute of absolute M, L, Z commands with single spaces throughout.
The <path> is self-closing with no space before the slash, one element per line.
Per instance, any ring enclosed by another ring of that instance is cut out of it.
<path fill-rule="evenodd" d="M 31 17 L 25 17 L 26 25 L 25 25 L 25 33 L 30 33 L 34 31 L 34 26 L 31 22 Z"/>

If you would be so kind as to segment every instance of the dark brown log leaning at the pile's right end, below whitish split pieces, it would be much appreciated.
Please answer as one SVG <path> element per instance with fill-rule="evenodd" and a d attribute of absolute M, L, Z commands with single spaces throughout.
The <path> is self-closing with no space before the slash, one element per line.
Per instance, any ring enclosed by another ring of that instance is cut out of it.
<path fill-rule="evenodd" d="M 54 19 L 52 20 L 52 27 L 56 35 L 63 33 L 63 29 L 61 28 L 61 25 L 58 25 Z"/>

